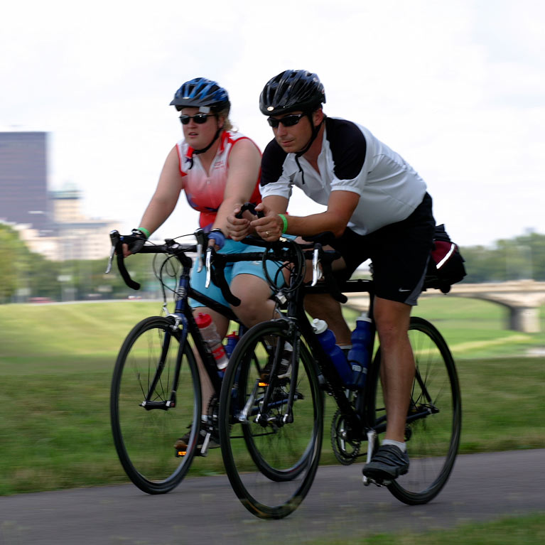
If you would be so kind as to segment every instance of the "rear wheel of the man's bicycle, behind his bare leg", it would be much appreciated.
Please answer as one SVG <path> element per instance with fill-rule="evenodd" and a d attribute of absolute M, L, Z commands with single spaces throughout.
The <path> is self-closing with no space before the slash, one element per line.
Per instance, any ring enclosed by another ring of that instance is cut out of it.
<path fill-rule="evenodd" d="M 441 333 L 427 320 L 412 317 L 409 340 L 416 362 L 406 426 L 409 473 L 392 481 L 388 490 L 399 501 L 417 505 L 433 500 L 450 477 L 460 443 L 462 401 L 455 363 Z M 373 388 L 369 410 L 375 422 L 384 422 L 384 406 L 377 407 L 382 399 L 379 367 L 380 348 L 369 374 Z M 430 399 L 425 399 L 426 392 Z M 410 421 L 411 414 L 426 407 L 432 414 Z"/>

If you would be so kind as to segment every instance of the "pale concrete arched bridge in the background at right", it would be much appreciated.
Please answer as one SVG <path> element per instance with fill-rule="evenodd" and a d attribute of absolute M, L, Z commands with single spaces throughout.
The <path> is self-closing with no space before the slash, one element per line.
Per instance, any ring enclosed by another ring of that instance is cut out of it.
<path fill-rule="evenodd" d="M 347 306 L 365 310 L 369 305 L 367 293 L 346 293 Z M 450 297 L 483 299 L 502 305 L 509 310 L 507 329 L 523 333 L 539 333 L 539 307 L 545 305 L 545 282 L 517 280 L 490 284 L 454 284 Z M 425 291 L 427 297 L 444 297 L 438 290 Z"/>

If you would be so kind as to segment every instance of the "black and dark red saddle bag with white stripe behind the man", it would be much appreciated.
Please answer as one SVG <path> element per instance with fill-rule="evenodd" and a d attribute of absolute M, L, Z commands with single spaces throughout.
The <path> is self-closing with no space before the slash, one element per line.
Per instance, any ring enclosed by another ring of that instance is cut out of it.
<path fill-rule="evenodd" d="M 428 276 L 437 279 L 437 288 L 443 293 L 450 291 L 450 286 L 463 280 L 467 274 L 458 245 L 450 240 L 445 225 L 436 225 L 433 235 L 433 249 L 428 264 Z"/>

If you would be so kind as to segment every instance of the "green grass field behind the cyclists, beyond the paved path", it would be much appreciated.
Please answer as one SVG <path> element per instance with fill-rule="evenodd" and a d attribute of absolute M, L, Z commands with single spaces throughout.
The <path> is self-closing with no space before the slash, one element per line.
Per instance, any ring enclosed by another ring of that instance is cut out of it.
<path fill-rule="evenodd" d="M 109 428 L 109 384 L 126 334 L 160 311 L 141 301 L 0 306 L 0 495 L 126 482 Z M 433 320 L 454 347 L 461 452 L 545 447 L 545 357 L 524 357 L 527 347 L 544 345 L 543 335 L 512 340 L 522 334 L 502 329 L 502 313 L 481 301 L 425 300 L 415 313 Z M 484 345 L 464 347 L 468 339 Z M 487 346 L 491 339 L 502 344 Z M 334 411 L 328 398 L 324 463 L 335 463 Z M 219 449 L 191 469 L 220 472 Z"/>

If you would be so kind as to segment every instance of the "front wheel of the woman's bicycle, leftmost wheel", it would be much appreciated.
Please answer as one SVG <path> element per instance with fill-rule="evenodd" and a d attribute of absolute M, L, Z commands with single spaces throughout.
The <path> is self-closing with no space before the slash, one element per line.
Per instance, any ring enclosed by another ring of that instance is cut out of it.
<path fill-rule="evenodd" d="M 126 475 L 148 494 L 173 490 L 188 472 L 200 426 L 200 379 L 188 342 L 179 351 L 180 330 L 173 320 L 146 318 L 127 335 L 119 350 L 112 377 L 110 418 L 114 444 Z M 141 406 L 149 392 L 158 362 L 164 365 L 151 396 L 158 403 L 168 400 L 178 356 L 182 357 L 176 388 L 176 404 L 164 409 Z M 185 455 L 177 457 L 174 443 L 190 423 Z"/>

